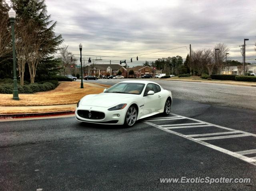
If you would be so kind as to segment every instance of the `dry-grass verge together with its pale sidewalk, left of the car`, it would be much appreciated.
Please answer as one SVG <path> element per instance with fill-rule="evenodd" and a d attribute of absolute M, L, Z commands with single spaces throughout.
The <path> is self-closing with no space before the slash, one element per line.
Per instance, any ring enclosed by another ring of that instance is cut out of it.
<path fill-rule="evenodd" d="M 88 94 L 99 94 L 106 86 L 80 82 L 61 82 L 51 91 L 34 94 L 19 94 L 20 100 L 12 99 L 12 94 L 0 94 L 0 114 L 41 113 L 52 111 L 74 111 L 76 103 Z"/>

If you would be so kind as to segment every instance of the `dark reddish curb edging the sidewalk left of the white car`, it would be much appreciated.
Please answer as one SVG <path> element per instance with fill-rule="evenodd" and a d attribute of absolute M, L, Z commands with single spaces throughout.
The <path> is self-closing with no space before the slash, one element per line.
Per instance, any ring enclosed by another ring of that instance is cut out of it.
<path fill-rule="evenodd" d="M 0 119 L 17 119 L 17 118 L 27 118 L 27 117 L 47 117 L 56 115 L 70 115 L 74 114 L 75 110 L 69 111 L 51 111 L 51 112 L 41 112 L 41 113 L 11 113 L 11 114 L 0 114 Z"/>

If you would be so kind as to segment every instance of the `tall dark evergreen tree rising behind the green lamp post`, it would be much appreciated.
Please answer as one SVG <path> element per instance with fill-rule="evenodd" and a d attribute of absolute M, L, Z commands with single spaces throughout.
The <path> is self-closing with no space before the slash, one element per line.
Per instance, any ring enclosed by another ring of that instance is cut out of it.
<path fill-rule="evenodd" d="M 44 0 L 11 0 L 11 2 L 16 11 L 16 38 L 24 40 L 22 39 L 24 36 L 19 36 L 19 31 L 25 30 L 32 39 L 27 42 L 29 48 L 26 56 L 30 82 L 34 83 L 38 64 L 43 64 L 52 56 L 63 39 L 61 35 L 55 36 L 54 27 L 57 22 L 50 20 Z"/>

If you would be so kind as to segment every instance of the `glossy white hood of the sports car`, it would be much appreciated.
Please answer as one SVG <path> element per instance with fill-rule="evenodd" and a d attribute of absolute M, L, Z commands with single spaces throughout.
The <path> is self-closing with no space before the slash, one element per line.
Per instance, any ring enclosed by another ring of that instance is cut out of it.
<path fill-rule="evenodd" d="M 101 93 L 85 96 L 81 105 L 111 107 L 121 102 L 126 102 L 126 98 L 138 97 L 135 94 Z"/>

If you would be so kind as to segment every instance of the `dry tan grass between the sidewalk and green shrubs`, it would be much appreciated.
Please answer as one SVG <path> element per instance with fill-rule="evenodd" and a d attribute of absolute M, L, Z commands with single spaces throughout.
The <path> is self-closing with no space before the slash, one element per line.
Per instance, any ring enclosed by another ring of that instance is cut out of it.
<path fill-rule="evenodd" d="M 38 105 L 66 105 L 77 103 L 88 94 L 99 94 L 104 88 L 80 82 L 62 82 L 55 89 L 48 92 L 34 94 L 19 94 L 20 100 L 13 100 L 12 94 L 0 94 L 0 106 L 38 106 Z"/>

